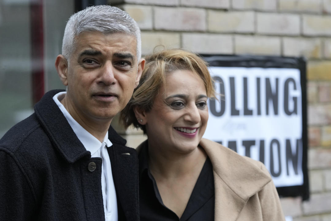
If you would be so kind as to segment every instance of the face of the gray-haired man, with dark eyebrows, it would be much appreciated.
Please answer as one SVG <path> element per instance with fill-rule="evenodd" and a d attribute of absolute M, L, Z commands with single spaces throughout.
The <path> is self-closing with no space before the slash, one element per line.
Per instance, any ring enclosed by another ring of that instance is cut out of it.
<path fill-rule="evenodd" d="M 139 83 L 144 62 L 138 64 L 136 39 L 125 33 L 84 32 L 75 40 L 66 76 L 60 74 L 68 86 L 65 106 L 75 120 L 111 120 Z"/>

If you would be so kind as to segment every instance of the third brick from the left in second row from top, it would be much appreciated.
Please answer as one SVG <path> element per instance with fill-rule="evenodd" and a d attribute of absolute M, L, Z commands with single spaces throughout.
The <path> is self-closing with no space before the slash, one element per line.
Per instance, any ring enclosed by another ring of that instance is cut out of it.
<path fill-rule="evenodd" d="M 254 12 L 208 11 L 208 29 L 212 32 L 254 32 Z"/>

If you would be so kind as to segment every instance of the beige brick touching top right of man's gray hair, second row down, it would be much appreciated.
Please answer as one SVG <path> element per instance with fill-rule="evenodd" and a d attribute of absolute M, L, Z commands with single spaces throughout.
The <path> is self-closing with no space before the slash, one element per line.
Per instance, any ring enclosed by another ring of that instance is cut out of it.
<path fill-rule="evenodd" d="M 124 5 L 126 11 L 139 25 L 140 29 L 153 28 L 152 7 L 144 5 Z"/>

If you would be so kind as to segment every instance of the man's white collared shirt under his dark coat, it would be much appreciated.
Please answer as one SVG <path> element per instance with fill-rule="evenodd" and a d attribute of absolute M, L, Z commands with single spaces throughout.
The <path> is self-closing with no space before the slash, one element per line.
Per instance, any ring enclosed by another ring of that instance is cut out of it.
<path fill-rule="evenodd" d="M 112 146 L 112 142 L 108 139 L 108 132 L 100 142 L 92 134 L 87 132 L 80 124 L 75 121 L 67 109 L 60 102 L 67 92 L 60 92 L 54 95 L 53 100 L 59 106 L 60 110 L 66 117 L 68 123 L 70 124 L 73 132 L 77 135 L 80 142 L 84 145 L 85 149 L 91 152 L 91 157 L 100 157 L 102 159 L 101 167 L 101 187 L 103 204 L 105 211 L 106 221 L 117 221 L 118 211 L 117 211 L 117 198 L 115 185 L 112 174 L 112 167 L 109 159 L 109 154 L 107 147 Z"/>

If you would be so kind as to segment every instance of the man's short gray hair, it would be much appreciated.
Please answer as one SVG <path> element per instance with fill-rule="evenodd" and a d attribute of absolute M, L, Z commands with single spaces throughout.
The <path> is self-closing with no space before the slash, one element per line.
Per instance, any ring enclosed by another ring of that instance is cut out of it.
<path fill-rule="evenodd" d="M 67 22 L 62 42 L 62 55 L 68 61 L 75 49 L 75 37 L 85 31 L 100 31 L 104 34 L 123 32 L 134 36 L 137 40 L 137 60 L 140 60 L 140 29 L 127 12 L 109 5 L 98 5 L 73 14 Z"/>

